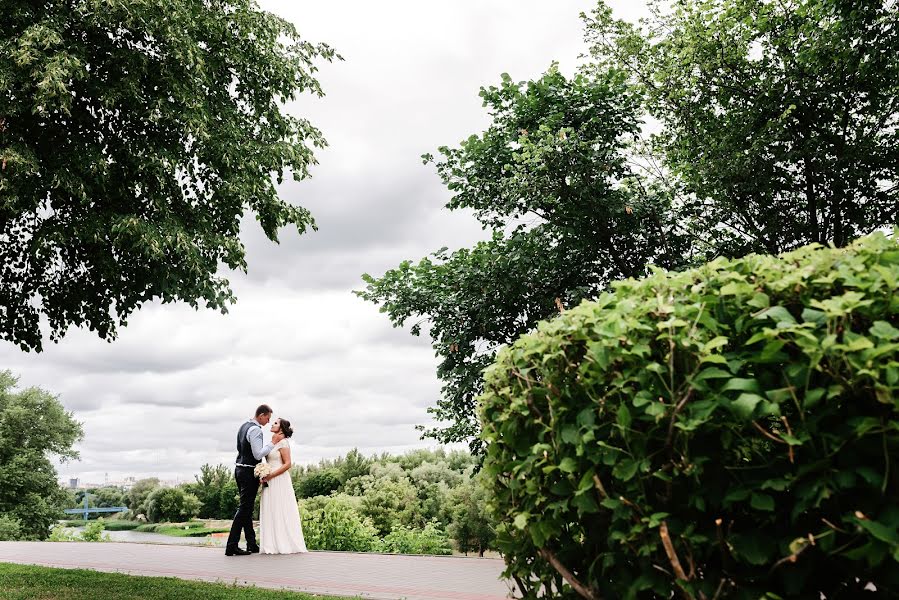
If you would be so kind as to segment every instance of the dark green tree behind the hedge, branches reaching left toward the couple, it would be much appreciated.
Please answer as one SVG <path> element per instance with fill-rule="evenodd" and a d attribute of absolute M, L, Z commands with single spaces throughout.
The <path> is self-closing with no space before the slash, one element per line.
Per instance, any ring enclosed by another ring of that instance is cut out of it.
<path fill-rule="evenodd" d="M 621 71 L 568 79 L 553 67 L 527 83 L 504 75 L 481 96 L 487 131 L 425 161 L 454 194 L 447 207 L 474 211 L 491 239 L 366 274 L 357 292 L 395 326 L 413 321 L 413 335 L 427 322 L 444 385 L 430 409 L 442 424 L 425 435 L 442 442 L 478 433 L 481 372 L 498 347 L 648 262 L 681 264 L 686 252 L 670 199 L 627 163 L 640 98 Z"/>

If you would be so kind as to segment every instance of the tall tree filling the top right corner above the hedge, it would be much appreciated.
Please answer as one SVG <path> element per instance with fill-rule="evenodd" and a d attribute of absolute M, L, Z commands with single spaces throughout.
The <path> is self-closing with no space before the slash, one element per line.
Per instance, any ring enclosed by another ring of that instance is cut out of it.
<path fill-rule="evenodd" d="M 592 54 L 662 124 L 655 150 L 714 253 L 844 246 L 899 221 L 899 10 L 878 0 L 602 2 Z"/>

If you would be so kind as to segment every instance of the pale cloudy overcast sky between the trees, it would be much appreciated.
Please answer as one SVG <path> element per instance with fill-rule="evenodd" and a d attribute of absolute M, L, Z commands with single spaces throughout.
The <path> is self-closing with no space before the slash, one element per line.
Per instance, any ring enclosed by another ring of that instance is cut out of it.
<path fill-rule="evenodd" d="M 645 12 L 642 0 L 611 4 L 632 20 Z M 61 465 L 61 478 L 190 480 L 203 463 L 233 463 L 236 429 L 261 402 L 292 421 L 300 462 L 432 447 L 415 430 L 440 390 L 427 338 L 393 329 L 351 292 L 364 272 L 483 236 L 443 208 L 449 195 L 420 155 L 487 126 L 478 88 L 501 73 L 525 80 L 554 60 L 571 72 L 584 51 L 578 15 L 594 3 L 261 5 L 345 59 L 322 65 L 325 98 L 289 107 L 330 143 L 311 179 L 281 188 L 319 231 L 285 231 L 274 245 L 248 223 L 249 272 L 231 277 L 238 303 L 227 315 L 155 305 L 112 344 L 73 331 L 25 354 L 0 341 L 0 368 L 57 394 L 84 424 L 81 460 Z"/>

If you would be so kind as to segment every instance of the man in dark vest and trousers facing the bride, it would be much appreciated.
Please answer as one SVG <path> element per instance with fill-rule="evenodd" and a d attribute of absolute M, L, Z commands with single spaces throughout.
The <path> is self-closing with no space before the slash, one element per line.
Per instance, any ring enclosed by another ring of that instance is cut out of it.
<path fill-rule="evenodd" d="M 237 464 L 234 467 L 234 479 L 237 480 L 240 504 L 231 524 L 231 533 L 225 545 L 225 556 L 246 556 L 259 552 L 256 532 L 253 530 L 253 507 L 256 504 L 256 493 L 259 491 L 259 480 L 256 479 L 253 469 L 272 451 L 271 444 L 262 445 L 262 428 L 268 425 L 271 418 L 271 407 L 261 404 L 256 409 L 256 416 L 237 430 Z M 247 538 L 246 550 L 237 546 L 241 530 Z"/>

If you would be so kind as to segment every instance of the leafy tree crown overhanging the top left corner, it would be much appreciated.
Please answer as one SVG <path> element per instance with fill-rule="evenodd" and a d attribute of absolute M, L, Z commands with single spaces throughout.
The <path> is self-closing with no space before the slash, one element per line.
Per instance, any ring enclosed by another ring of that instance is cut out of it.
<path fill-rule="evenodd" d="M 325 145 L 283 106 L 335 55 L 253 0 L 10 0 L 0 40 L 0 339 L 112 339 L 155 299 L 225 312 L 241 217 L 314 227 L 272 174 Z"/>

